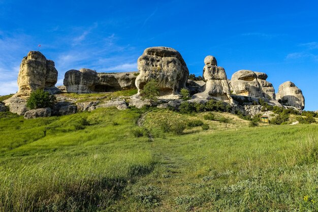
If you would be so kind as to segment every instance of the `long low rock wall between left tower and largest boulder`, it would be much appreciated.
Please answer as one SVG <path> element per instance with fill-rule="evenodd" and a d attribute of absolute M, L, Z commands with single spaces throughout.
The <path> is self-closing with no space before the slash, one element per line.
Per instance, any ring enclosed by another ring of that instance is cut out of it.
<path fill-rule="evenodd" d="M 114 92 L 135 87 L 136 72 L 97 73 L 90 69 L 70 70 L 65 73 L 63 84 L 67 92 Z"/>

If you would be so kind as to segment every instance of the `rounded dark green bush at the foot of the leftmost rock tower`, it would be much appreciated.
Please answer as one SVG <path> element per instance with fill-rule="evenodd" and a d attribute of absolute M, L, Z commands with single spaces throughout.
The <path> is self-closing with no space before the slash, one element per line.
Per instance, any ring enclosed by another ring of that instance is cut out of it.
<path fill-rule="evenodd" d="M 55 96 L 49 92 L 45 92 L 43 89 L 37 89 L 30 94 L 26 102 L 26 107 L 29 109 L 52 107 L 56 101 Z"/>

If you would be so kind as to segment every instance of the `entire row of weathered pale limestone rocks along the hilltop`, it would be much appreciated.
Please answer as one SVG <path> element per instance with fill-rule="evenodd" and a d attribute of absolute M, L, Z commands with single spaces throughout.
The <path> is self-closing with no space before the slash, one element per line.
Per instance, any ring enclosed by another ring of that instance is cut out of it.
<path fill-rule="evenodd" d="M 5 100 L 4 104 L 0 103 L 0 111 L 4 111 L 8 107 L 11 112 L 25 114 L 26 118 L 33 118 L 51 114 L 72 114 L 98 107 L 116 106 L 118 109 L 128 107 L 128 103 L 121 99 L 104 102 L 104 104 L 87 102 L 74 105 L 61 98 L 51 109 L 28 111 L 26 99 L 31 92 L 39 88 L 45 89 L 51 94 L 114 92 L 137 88 L 138 93 L 131 97 L 129 104 L 141 107 L 148 104 L 147 101 L 141 100 L 141 91 L 151 79 L 154 79 L 160 88 L 158 99 L 161 100 L 161 105 L 158 107 L 166 107 L 169 104 L 179 105 L 182 88 L 188 89 L 193 95 L 192 100 L 189 101 L 221 100 L 243 108 L 247 114 L 260 111 L 260 105 L 251 106 L 252 102 L 258 101 L 258 99 L 263 99 L 270 105 L 293 107 L 299 110 L 303 110 L 305 107 L 304 96 L 293 82 L 282 83 L 278 93 L 275 94 L 274 87 L 267 81 L 268 76 L 265 73 L 240 70 L 235 72 L 230 80 L 225 69 L 217 66 L 216 58 L 211 55 L 204 59 L 204 81 L 188 80 L 189 71 L 186 63 L 181 54 L 173 48 L 147 48 L 138 58 L 137 63 L 138 72 L 98 73 L 90 69 L 70 70 L 65 73 L 64 85 L 57 88 L 55 84 L 58 73 L 54 62 L 46 59 L 39 51 L 30 51 L 22 59 L 20 65 L 18 92 L 12 98 Z M 26 113 L 26 111 L 28 112 Z"/>

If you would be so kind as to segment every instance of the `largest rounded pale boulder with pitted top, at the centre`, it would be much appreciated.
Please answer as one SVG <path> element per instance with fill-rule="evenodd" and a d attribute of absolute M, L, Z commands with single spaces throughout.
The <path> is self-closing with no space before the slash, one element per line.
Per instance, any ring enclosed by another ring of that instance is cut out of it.
<path fill-rule="evenodd" d="M 144 85 L 154 79 L 160 87 L 160 97 L 178 95 L 181 88 L 186 88 L 189 76 L 188 68 L 181 54 L 168 47 L 150 47 L 144 50 L 138 58 L 138 71 L 136 79 L 138 94 Z"/>

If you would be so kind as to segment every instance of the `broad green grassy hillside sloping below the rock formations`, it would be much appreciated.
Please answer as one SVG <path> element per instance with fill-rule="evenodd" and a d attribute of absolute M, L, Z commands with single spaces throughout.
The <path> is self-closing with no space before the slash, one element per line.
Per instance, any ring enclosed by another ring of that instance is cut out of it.
<path fill-rule="evenodd" d="M 318 125 L 249 128 L 207 114 L 2 115 L 0 211 L 317 210 Z M 163 132 L 167 120 L 188 127 Z"/>

